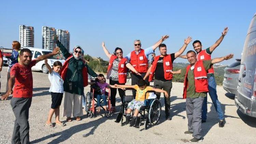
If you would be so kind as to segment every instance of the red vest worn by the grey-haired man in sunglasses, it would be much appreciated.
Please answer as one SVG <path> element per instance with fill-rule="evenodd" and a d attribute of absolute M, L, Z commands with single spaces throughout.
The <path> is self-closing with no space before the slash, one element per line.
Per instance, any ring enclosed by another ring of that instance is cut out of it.
<path fill-rule="evenodd" d="M 136 69 L 137 72 L 139 73 L 147 72 L 148 60 L 144 53 L 144 49 L 141 49 L 138 55 L 135 53 L 135 51 L 132 51 L 130 63 Z"/>

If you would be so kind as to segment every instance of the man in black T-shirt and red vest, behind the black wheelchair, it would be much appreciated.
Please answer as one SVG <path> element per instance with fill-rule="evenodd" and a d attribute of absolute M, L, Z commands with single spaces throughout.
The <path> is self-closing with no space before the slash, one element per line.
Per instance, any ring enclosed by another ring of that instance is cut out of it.
<path fill-rule="evenodd" d="M 154 58 L 154 61 L 150 68 L 147 70 L 146 75 L 144 76 L 144 80 L 149 76 L 149 81 L 153 81 L 153 77 L 155 76 L 154 80 L 154 87 L 163 89 L 167 91 L 168 97 L 165 97 L 165 117 L 167 120 L 171 120 L 170 116 L 170 94 L 172 89 L 172 63 L 173 61 L 180 56 L 186 49 L 187 45 L 191 42 L 192 38 L 188 37 L 184 40 L 183 46 L 180 50 L 176 53 L 167 54 L 167 47 L 165 44 L 159 45 L 159 52 L 160 55 Z M 156 96 L 160 99 L 161 93 L 157 92 Z"/>

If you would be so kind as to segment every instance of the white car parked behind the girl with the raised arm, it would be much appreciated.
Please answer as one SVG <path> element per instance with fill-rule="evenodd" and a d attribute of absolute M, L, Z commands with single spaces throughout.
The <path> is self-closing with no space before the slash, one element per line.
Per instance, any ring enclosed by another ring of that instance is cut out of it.
<path fill-rule="evenodd" d="M 30 51 L 32 52 L 32 60 L 36 59 L 37 57 L 39 57 L 41 55 L 49 54 L 52 52 L 51 50 L 41 49 L 41 48 L 34 48 L 34 47 L 26 47 L 26 48 L 30 49 Z M 48 64 L 51 67 L 53 67 L 53 63 L 55 61 L 60 61 L 62 63 L 62 65 L 65 62 L 65 60 L 63 60 L 59 54 L 48 58 Z M 33 71 L 42 71 L 43 73 L 48 73 L 48 69 L 44 64 L 44 60 L 39 61 L 31 69 Z"/>

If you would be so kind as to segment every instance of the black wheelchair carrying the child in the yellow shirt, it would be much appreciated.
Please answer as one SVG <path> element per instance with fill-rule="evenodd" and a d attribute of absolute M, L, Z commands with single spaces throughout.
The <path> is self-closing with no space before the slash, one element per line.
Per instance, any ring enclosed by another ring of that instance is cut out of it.
<path fill-rule="evenodd" d="M 132 88 L 127 88 L 126 90 L 133 90 Z M 121 126 L 124 126 L 125 124 L 123 123 L 125 115 L 125 111 L 127 110 L 128 103 L 133 100 L 133 95 L 126 95 L 126 90 L 125 90 L 125 95 L 123 98 L 123 103 L 120 107 L 120 111 L 118 116 L 121 117 Z M 140 114 L 140 122 L 139 126 L 137 128 L 140 128 L 141 123 L 144 124 L 144 129 L 146 130 L 148 126 L 155 126 L 161 116 L 161 103 L 160 101 L 155 98 L 155 99 L 146 99 L 147 93 L 153 92 L 155 94 L 155 91 L 150 90 L 145 93 L 145 100 L 144 100 L 144 106 L 141 107 L 139 114 Z M 134 110 L 133 110 L 134 111 Z M 133 116 L 133 111 L 131 113 L 131 117 Z M 117 118 L 118 118 L 117 116 Z M 118 120 L 116 120 L 118 123 Z"/>

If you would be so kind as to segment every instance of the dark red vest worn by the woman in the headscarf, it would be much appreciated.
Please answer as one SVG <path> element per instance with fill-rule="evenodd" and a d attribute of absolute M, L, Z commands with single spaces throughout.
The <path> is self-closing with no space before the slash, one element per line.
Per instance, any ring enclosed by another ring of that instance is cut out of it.
<path fill-rule="evenodd" d="M 60 76 L 62 77 L 63 80 L 65 80 L 65 77 L 66 77 L 66 74 L 67 74 L 67 70 L 68 70 L 69 60 L 72 57 L 73 57 L 73 55 L 68 57 L 67 60 L 64 62 L 62 68 L 60 69 L 59 73 L 60 73 Z M 87 68 L 86 67 L 84 67 L 82 69 L 82 74 L 83 74 L 84 87 L 86 87 L 88 85 L 88 74 L 87 74 Z"/>

